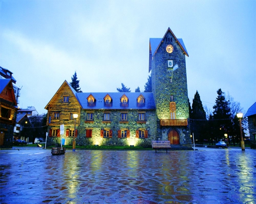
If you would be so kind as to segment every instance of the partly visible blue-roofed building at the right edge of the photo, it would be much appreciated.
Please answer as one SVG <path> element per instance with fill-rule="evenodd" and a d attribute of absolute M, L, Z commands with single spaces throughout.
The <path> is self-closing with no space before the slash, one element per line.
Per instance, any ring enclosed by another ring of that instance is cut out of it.
<path fill-rule="evenodd" d="M 245 117 L 248 118 L 250 131 L 250 148 L 256 149 L 256 102 L 249 107 Z"/>

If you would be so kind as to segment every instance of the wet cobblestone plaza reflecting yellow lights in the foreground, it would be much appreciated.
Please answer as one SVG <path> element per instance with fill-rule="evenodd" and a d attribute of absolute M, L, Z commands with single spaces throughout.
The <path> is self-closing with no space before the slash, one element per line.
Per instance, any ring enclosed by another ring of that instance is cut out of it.
<path fill-rule="evenodd" d="M 0 150 L 0 203 L 256 203 L 256 151 Z"/>

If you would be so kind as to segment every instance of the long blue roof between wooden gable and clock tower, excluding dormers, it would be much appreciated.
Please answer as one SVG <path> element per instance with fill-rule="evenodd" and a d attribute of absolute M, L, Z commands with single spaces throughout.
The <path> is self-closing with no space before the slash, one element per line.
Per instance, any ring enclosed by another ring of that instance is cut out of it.
<path fill-rule="evenodd" d="M 123 95 L 128 98 L 127 106 L 122 106 L 120 98 Z M 89 104 L 87 98 L 92 95 L 96 102 Z M 104 97 L 109 95 L 112 98 L 111 106 L 104 103 Z M 143 95 L 145 104 L 137 104 L 137 98 Z M 113 92 L 113 93 L 76 93 L 76 96 L 83 109 L 156 109 L 153 93 L 140 92 Z"/>

